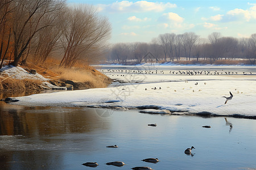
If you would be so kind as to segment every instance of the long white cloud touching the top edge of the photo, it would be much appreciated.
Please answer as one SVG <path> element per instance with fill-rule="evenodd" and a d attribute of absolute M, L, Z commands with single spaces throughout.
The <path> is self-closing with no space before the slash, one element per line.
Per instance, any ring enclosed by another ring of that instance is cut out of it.
<path fill-rule="evenodd" d="M 121 1 L 114 2 L 110 5 L 98 5 L 101 10 L 111 11 L 111 12 L 146 12 L 146 11 L 155 11 L 160 12 L 164 11 L 167 8 L 177 7 L 176 4 L 170 2 L 148 2 L 148 1 Z"/>

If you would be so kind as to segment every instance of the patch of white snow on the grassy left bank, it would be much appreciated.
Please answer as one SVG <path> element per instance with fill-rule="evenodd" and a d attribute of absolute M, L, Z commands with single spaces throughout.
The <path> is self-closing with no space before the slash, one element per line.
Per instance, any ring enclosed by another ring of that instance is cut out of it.
<path fill-rule="evenodd" d="M 1 74 L 5 74 L 7 76 L 12 76 L 15 79 L 39 79 L 43 81 L 47 81 L 47 78 L 44 78 L 42 75 L 36 73 L 31 74 L 24 70 L 22 67 L 14 67 L 14 66 L 4 66 L 0 69 Z"/>

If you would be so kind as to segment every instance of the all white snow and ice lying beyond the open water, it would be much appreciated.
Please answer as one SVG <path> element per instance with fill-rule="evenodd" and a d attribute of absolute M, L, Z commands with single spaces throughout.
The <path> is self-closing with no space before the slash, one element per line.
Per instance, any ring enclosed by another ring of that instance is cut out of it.
<path fill-rule="evenodd" d="M 161 66 L 158 67 L 161 68 Z M 203 70 L 201 66 L 196 66 L 196 69 Z M 226 68 L 220 66 L 219 69 Z M 246 66 L 237 66 L 235 70 L 240 73 L 237 75 L 173 75 L 165 70 L 164 74 L 146 75 L 106 73 L 105 70 L 106 75 L 113 75 L 120 81 L 125 80 L 126 83 L 123 83 L 125 85 L 16 97 L 15 99 L 19 101 L 12 104 L 146 109 L 143 112 L 255 117 L 255 67 L 250 67 L 251 75 L 242 74 L 241 70 L 249 73 Z M 124 76 L 120 76 L 121 74 Z M 230 96 L 229 91 L 234 97 L 224 104 L 226 99 L 222 96 Z"/>

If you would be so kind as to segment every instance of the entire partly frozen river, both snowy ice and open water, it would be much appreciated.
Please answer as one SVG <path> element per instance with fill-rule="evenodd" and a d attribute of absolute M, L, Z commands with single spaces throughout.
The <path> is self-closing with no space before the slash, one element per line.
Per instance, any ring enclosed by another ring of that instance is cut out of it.
<path fill-rule="evenodd" d="M 254 66 L 97 69 L 115 82 L 0 101 L 0 169 L 256 168 Z M 229 91 L 234 97 L 224 104 Z M 114 161 L 126 165 L 105 164 Z"/>

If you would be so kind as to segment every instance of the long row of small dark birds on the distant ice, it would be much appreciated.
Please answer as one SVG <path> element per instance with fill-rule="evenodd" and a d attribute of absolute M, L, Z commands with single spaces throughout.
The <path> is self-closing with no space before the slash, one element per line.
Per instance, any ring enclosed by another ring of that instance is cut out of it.
<path fill-rule="evenodd" d="M 243 75 L 251 75 L 253 73 L 245 72 L 243 71 L 242 73 L 238 73 L 237 71 L 228 71 L 228 70 L 201 70 L 201 71 L 195 71 L 195 70 L 114 70 L 114 69 L 108 69 L 108 70 L 103 70 L 103 73 L 121 73 L 120 76 L 125 76 L 125 74 L 174 74 L 174 75 L 238 75 L 238 74 L 243 74 Z M 114 74 L 113 74 L 114 76 Z M 118 74 L 117 74 L 118 76 Z"/>

